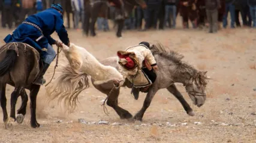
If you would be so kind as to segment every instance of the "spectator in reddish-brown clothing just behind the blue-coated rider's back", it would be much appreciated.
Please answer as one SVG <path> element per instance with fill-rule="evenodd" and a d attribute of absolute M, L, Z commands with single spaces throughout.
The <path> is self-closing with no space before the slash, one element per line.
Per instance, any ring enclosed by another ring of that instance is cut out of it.
<path fill-rule="evenodd" d="M 25 20 L 26 15 L 28 16 L 35 14 L 35 0 L 22 0 L 22 11 L 20 14 L 20 21 Z"/>

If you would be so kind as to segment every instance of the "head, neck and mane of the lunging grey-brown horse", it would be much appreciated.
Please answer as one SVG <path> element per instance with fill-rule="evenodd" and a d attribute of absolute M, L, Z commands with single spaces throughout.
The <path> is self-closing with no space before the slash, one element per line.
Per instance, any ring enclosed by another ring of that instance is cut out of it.
<path fill-rule="evenodd" d="M 183 55 L 162 46 L 161 43 L 153 44 L 150 46 L 150 50 L 157 60 L 161 73 L 164 74 L 162 78 L 172 77 L 173 82 L 183 83 L 193 103 L 201 107 L 206 100 L 207 71 L 198 71 L 182 61 Z M 161 66 L 166 64 L 170 66 Z M 170 75 L 165 73 L 170 73 Z"/>

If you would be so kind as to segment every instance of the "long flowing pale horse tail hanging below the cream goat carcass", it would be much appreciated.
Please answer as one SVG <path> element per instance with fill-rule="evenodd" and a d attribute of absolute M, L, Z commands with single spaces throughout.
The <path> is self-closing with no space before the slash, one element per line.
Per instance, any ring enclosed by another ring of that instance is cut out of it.
<path fill-rule="evenodd" d="M 64 106 L 68 112 L 76 108 L 78 95 L 89 88 L 88 75 L 82 71 L 71 68 L 70 64 L 60 65 L 61 75 L 49 86 L 46 91 L 50 100 L 58 98 L 58 103 L 64 100 Z"/>

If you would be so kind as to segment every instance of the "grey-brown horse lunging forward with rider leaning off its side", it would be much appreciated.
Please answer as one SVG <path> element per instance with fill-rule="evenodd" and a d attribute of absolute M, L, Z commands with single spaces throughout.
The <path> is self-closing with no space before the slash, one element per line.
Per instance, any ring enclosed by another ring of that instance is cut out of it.
<path fill-rule="evenodd" d="M 180 92 L 177 90 L 174 83 L 183 83 L 186 92 L 188 92 L 188 95 L 193 103 L 198 107 L 201 107 L 206 100 L 205 88 L 207 85 L 207 71 L 198 71 L 191 65 L 184 63 L 182 61 L 183 55 L 180 55 L 179 53 L 174 51 L 167 51 L 167 49 L 160 44 L 152 45 L 150 47 L 150 50 L 155 57 L 156 63 L 159 67 L 159 71 L 156 73 L 157 77 L 155 82 L 153 83 L 153 85 L 150 86 L 149 90 L 147 91 L 143 107 L 140 111 L 138 111 L 137 114 L 135 114 L 134 119 L 142 120 L 143 115 L 146 109 L 149 107 L 150 102 L 152 101 L 156 92 L 159 89 L 163 88 L 167 88 L 167 90 L 180 101 L 189 116 L 194 116 L 192 108 L 185 101 L 182 94 L 180 94 Z M 118 69 L 116 57 L 107 58 L 106 60 L 101 61 L 101 63 L 106 66 L 113 66 Z M 94 85 L 93 79 L 92 84 Z M 129 82 L 129 80 L 126 80 L 123 86 L 132 88 L 131 85 L 131 82 Z M 96 89 L 106 95 L 109 95 L 110 91 L 112 91 L 107 100 L 107 105 L 112 107 L 121 117 L 121 119 L 132 118 L 131 113 L 129 113 L 124 108 L 119 107 L 118 96 L 120 88 L 116 89 L 113 88 L 113 86 L 113 84 L 106 83 L 103 83 L 102 85 L 94 85 Z"/>

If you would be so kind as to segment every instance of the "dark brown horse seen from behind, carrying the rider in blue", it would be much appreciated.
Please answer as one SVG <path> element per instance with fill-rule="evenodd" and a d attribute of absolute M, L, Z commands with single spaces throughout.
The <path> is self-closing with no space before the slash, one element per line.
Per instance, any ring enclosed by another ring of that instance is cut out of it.
<path fill-rule="evenodd" d="M 30 91 L 31 100 L 31 126 L 38 128 L 40 126 L 36 119 L 36 102 L 40 85 L 34 85 L 33 82 L 40 73 L 39 53 L 26 43 L 11 42 L 0 48 L 0 102 L 4 115 L 5 129 L 12 129 L 12 122 L 16 121 L 15 107 L 19 95 L 22 98 L 22 105 L 17 110 L 17 122 L 22 123 L 26 114 L 26 105 L 28 95 L 25 89 Z M 5 97 L 6 85 L 14 86 L 11 94 L 11 113 L 10 118 L 7 114 L 7 99 Z"/>

